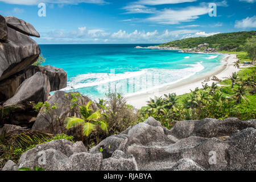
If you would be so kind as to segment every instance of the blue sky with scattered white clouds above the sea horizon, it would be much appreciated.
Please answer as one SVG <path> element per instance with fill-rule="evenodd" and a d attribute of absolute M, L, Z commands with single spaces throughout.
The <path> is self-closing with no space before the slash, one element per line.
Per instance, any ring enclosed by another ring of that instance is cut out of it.
<path fill-rule="evenodd" d="M 39 3 L 46 16 L 38 16 Z M 209 16 L 209 3 L 217 16 Z M 0 0 L 0 14 L 31 23 L 39 44 L 164 43 L 256 30 L 256 0 Z"/>

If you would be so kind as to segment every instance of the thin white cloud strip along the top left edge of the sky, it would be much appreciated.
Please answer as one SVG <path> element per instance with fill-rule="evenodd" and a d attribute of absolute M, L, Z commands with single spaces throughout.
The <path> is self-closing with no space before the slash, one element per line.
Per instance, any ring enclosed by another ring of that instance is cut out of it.
<path fill-rule="evenodd" d="M 77 5 L 79 3 L 93 3 L 93 4 L 104 4 L 104 0 L 0 0 L 15 5 L 38 5 L 40 2 L 44 3 L 57 3 L 57 4 L 68 4 Z"/>

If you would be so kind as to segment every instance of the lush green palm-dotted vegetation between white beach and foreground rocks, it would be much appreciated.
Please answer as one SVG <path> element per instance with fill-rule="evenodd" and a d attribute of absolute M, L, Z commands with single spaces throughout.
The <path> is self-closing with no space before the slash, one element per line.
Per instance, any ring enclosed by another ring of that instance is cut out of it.
<path fill-rule="evenodd" d="M 237 117 L 243 121 L 255 119 L 255 69 L 242 68 L 228 80 L 222 81 L 220 84 L 224 86 L 221 87 L 214 83 L 211 86 L 205 84 L 203 89 L 197 88 L 182 96 L 169 94 L 165 98 L 151 98 L 148 105 L 140 110 L 139 120 L 143 122 L 152 116 L 171 129 L 177 121 L 182 120 L 228 117 Z"/>

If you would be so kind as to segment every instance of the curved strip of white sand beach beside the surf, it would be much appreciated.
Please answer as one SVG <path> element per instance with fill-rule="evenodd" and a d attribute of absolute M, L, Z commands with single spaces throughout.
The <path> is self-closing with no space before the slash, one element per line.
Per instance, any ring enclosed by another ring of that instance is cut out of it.
<path fill-rule="evenodd" d="M 212 80 L 204 82 L 205 78 L 210 77 L 210 79 L 212 79 L 213 76 L 216 76 L 221 80 L 225 80 L 226 77 L 232 75 L 233 72 L 239 71 L 239 69 L 235 68 L 233 64 L 235 61 L 237 61 L 237 57 L 235 54 L 229 54 L 229 56 L 225 57 L 225 59 L 222 61 L 224 62 L 224 64 L 217 71 L 208 73 L 207 75 L 202 75 L 197 78 L 183 80 L 170 86 L 164 86 L 163 88 L 159 88 L 158 90 L 126 97 L 127 103 L 133 105 L 137 109 L 141 109 L 142 106 L 147 105 L 147 101 L 150 98 L 154 98 L 155 96 L 160 97 L 168 93 L 176 93 L 179 96 L 185 93 L 190 93 L 191 90 L 195 90 L 197 87 L 200 89 L 203 88 L 202 85 L 205 83 L 207 83 L 208 85 L 212 85 L 212 82 L 216 82 Z"/>

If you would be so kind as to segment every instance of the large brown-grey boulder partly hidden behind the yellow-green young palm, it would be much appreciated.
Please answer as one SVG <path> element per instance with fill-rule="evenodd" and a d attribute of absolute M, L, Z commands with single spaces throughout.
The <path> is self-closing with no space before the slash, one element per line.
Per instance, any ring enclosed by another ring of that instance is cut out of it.
<path fill-rule="evenodd" d="M 65 94 L 68 94 L 67 96 Z M 86 105 L 90 99 L 85 96 L 78 97 L 79 105 Z M 39 114 L 36 121 L 32 127 L 32 130 L 40 130 L 46 133 L 59 134 L 67 132 L 67 134 L 72 134 L 74 137 L 81 138 L 81 132 L 77 129 L 66 130 L 64 127 L 64 120 L 67 117 L 81 117 L 79 110 L 71 109 L 71 93 L 66 93 L 63 91 L 55 92 L 48 99 L 49 105 L 57 104 L 57 109 L 52 111 L 52 116 L 50 114 Z M 96 110 L 96 106 L 93 104 L 92 108 Z"/>

